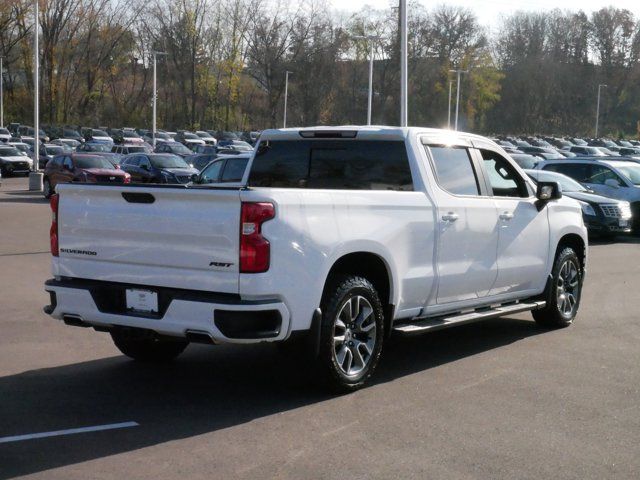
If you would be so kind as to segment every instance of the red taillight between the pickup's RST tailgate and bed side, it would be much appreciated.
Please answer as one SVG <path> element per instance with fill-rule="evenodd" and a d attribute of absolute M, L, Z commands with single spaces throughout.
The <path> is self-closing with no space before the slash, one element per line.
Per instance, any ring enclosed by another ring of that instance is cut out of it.
<path fill-rule="evenodd" d="M 240 273 L 269 270 L 271 245 L 262 236 L 262 224 L 276 216 L 271 203 L 242 203 L 240 220 Z"/>

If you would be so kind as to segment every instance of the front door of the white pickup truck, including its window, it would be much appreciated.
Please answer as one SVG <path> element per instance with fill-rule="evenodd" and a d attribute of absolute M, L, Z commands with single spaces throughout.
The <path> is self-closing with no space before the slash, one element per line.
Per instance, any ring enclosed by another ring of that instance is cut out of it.
<path fill-rule="evenodd" d="M 498 278 L 490 296 L 544 288 L 549 258 L 548 209 L 538 211 L 533 189 L 501 154 L 480 149 L 498 210 Z"/>

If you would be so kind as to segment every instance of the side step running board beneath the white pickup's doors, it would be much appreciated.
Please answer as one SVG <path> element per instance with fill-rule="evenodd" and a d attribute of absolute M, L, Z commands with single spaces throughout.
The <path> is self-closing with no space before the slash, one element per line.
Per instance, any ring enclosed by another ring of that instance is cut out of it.
<path fill-rule="evenodd" d="M 400 335 L 419 335 L 421 333 L 433 332 L 435 330 L 455 327 L 458 325 L 466 325 L 468 323 L 488 320 L 490 318 L 504 317 L 505 315 L 538 310 L 540 308 L 544 308 L 545 305 L 546 302 L 543 301 L 512 303 L 509 305 L 500 305 L 495 308 L 478 309 L 473 312 L 416 319 L 411 323 L 400 323 L 394 325 L 393 331 Z"/>

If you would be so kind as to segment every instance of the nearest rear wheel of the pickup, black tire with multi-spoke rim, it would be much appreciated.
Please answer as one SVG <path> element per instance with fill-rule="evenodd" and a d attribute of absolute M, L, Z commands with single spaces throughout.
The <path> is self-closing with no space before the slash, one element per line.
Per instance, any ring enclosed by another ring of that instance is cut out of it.
<path fill-rule="evenodd" d="M 382 353 L 384 311 L 378 292 L 365 278 L 338 276 L 329 280 L 321 309 L 321 374 L 332 390 L 355 391 L 371 377 Z"/>

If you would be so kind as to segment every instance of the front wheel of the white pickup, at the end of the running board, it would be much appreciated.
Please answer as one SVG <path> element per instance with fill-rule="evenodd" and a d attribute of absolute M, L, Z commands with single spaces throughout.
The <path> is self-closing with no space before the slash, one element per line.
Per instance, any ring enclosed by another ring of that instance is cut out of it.
<path fill-rule="evenodd" d="M 551 276 L 544 298 L 547 305 L 531 313 L 535 321 L 544 327 L 568 327 L 578 313 L 582 296 L 582 267 L 571 247 L 563 247 L 558 252 Z"/>

